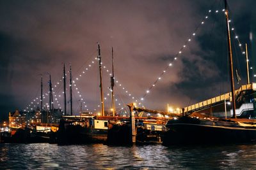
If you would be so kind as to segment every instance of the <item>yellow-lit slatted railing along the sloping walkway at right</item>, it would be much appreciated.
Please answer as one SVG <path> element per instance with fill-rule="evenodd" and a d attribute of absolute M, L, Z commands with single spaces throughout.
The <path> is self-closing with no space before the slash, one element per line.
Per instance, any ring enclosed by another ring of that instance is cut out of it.
<path fill-rule="evenodd" d="M 243 90 L 256 90 L 256 83 L 242 85 L 238 90 L 235 91 L 235 96 L 238 96 Z M 201 108 L 210 106 L 212 104 L 220 103 L 221 101 L 232 101 L 231 92 L 213 97 L 206 101 L 202 101 L 200 103 L 192 104 L 191 106 L 187 106 L 184 108 L 184 112 L 200 110 Z"/>

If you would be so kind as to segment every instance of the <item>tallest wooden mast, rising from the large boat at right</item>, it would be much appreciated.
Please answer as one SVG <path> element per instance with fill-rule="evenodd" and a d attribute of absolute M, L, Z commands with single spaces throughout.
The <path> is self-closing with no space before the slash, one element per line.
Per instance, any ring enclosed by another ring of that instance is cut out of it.
<path fill-rule="evenodd" d="M 232 49 L 231 49 L 231 41 L 230 41 L 227 0 L 224 0 L 224 2 L 225 2 L 225 15 L 226 15 L 226 22 L 227 22 L 227 40 L 228 40 L 228 56 L 229 56 L 229 64 L 230 64 L 229 72 L 230 72 L 230 85 L 231 85 L 231 94 L 232 94 L 233 118 L 236 118 L 235 85 L 234 85 L 234 75 L 233 75 L 233 59 L 232 59 Z"/>

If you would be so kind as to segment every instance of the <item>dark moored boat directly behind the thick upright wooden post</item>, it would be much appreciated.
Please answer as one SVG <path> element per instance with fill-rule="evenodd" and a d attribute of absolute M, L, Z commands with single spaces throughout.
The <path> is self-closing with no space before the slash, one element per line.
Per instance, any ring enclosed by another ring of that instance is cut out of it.
<path fill-rule="evenodd" d="M 109 121 L 107 145 L 131 145 L 131 121 L 129 117 Z M 136 117 L 136 144 L 161 144 L 166 132 L 166 120 L 150 117 Z"/>

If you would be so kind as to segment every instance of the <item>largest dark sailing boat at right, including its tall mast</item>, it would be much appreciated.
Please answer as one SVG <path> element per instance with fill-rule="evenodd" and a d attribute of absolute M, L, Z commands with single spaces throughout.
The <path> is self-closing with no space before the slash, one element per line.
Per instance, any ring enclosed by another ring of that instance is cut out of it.
<path fill-rule="evenodd" d="M 198 116 L 200 114 L 195 114 L 196 116 L 194 117 L 193 115 L 184 115 L 176 120 L 169 120 L 166 127 L 170 130 L 164 135 L 164 145 L 248 143 L 256 141 L 256 121 L 236 118 L 236 99 L 227 0 L 225 0 L 225 15 L 227 20 L 233 118 L 200 117 Z"/>

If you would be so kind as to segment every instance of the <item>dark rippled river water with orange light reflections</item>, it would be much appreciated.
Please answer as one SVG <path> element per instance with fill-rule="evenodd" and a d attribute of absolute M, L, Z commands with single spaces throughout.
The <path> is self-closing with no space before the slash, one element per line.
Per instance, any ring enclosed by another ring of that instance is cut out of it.
<path fill-rule="evenodd" d="M 0 169 L 256 169 L 256 145 L 0 144 Z"/>

